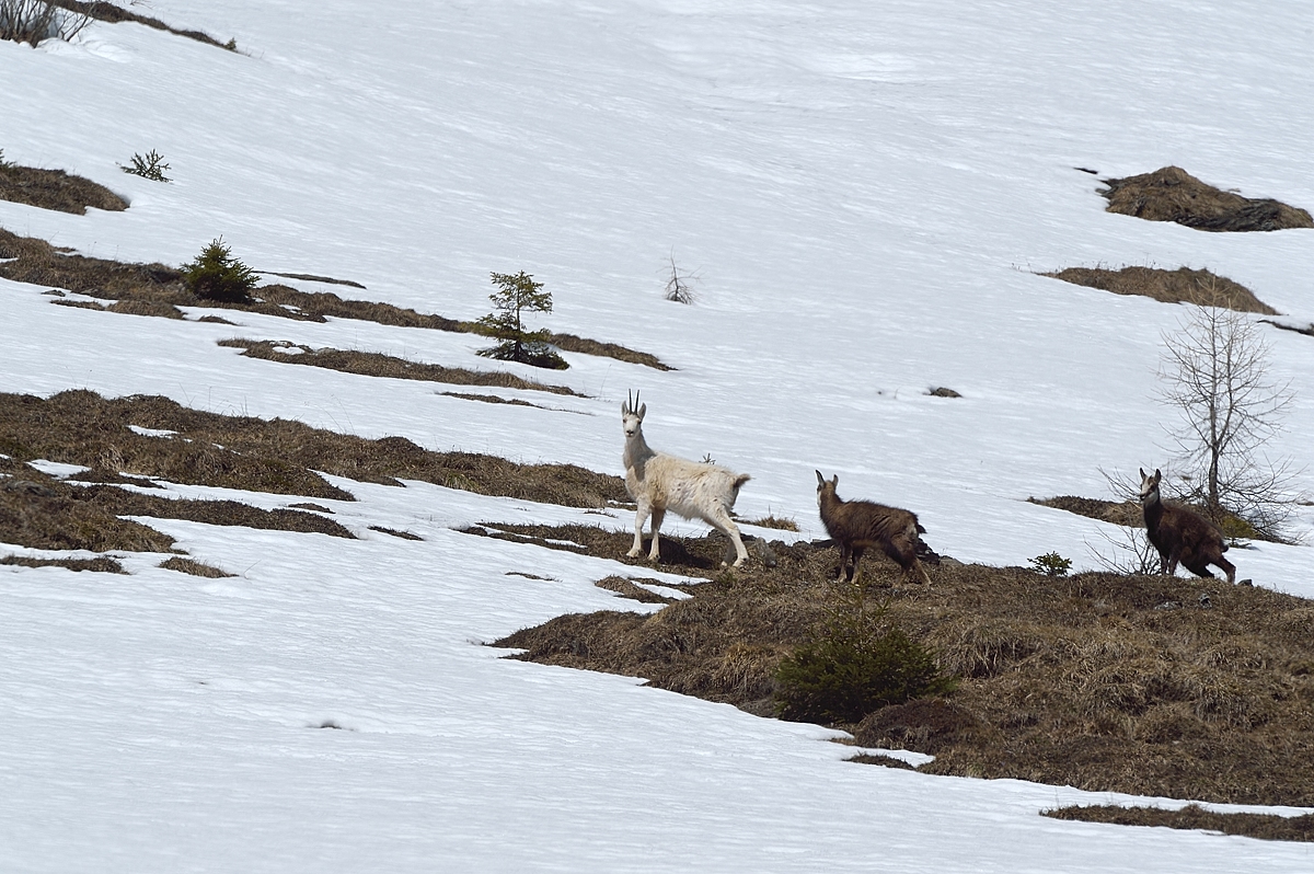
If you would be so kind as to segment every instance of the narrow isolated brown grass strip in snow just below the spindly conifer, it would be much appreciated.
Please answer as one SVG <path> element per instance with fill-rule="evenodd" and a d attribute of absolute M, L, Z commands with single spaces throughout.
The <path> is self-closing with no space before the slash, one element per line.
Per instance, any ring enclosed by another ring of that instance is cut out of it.
<path fill-rule="evenodd" d="M 514 373 L 466 371 L 464 368 L 442 367 L 439 364 L 420 364 L 418 361 L 407 361 L 406 359 L 394 357 L 392 355 L 382 355 L 381 352 L 355 352 L 334 348 L 314 350 L 309 346 L 296 346 L 293 343 L 243 339 L 219 340 L 219 346 L 239 348 L 247 357 L 258 357 L 265 361 L 280 361 L 284 364 L 309 364 L 310 367 L 323 367 L 330 371 L 357 373 L 360 376 L 377 376 L 393 380 L 424 380 L 430 382 L 447 382 L 451 385 L 487 385 L 503 389 L 531 389 L 535 392 L 551 392 L 553 394 L 572 394 L 579 397 L 577 392 L 564 385 L 544 385 L 543 382 L 522 379 Z M 480 397 L 480 400 L 484 398 Z M 511 401 L 506 402 L 511 403 Z"/>

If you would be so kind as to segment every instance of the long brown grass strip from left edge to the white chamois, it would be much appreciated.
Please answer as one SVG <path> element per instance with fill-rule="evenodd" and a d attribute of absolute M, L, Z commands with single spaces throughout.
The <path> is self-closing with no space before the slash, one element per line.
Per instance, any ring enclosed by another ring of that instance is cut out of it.
<path fill-rule="evenodd" d="M 146 436 L 130 425 L 173 435 Z M 114 474 L 339 501 L 352 495 L 315 471 L 388 485 L 422 480 L 572 507 L 625 499 L 620 477 L 573 464 L 431 452 L 401 436 L 367 440 L 289 419 L 202 413 L 163 397 L 105 400 L 84 390 L 49 400 L 0 394 L 0 452 L 18 461 L 47 459 Z"/>

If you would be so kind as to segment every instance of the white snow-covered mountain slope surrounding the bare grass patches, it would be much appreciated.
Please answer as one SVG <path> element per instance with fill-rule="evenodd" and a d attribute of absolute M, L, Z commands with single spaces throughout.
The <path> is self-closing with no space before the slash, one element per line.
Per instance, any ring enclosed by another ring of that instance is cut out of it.
<path fill-rule="evenodd" d="M 148 14 L 233 37 L 240 53 L 133 24 L 37 50 L 0 42 L 5 159 L 131 201 L 87 216 L 0 201 L 0 226 L 172 264 L 223 235 L 258 269 L 350 279 L 368 287 L 356 297 L 452 318 L 489 310 L 490 271 L 524 269 L 553 294 L 545 326 L 678 369 L 568 354 L 572 369 L 552 379 L 587 398 L 470 403 L 215 346 L 289 339 L 477 367 L 469 335 L 172 322 L 50 306 L 43 288 L 0 281 L 0 390 L 166 394 L 619 473 L 619 402 L 641 389 L 654 447 L 753 474 L 745 518 L 819 534 L 820 468 L 845 494 L 917 510 L 940 552 L 1022 564 L 1056 551 L 1091 568 L 1099 523 L 1025 498 L 1104 497 L 1101 468 L 1166 463 L 1155 368 L 1181 313 L 1034 271 L 1208 267 L 1314 321 L 1314 231 L 1112 216 L 1096 176 L 1075 170 L 1177 164 L 1314 205 L 1302 4 L 152 0 Z M 116 167 L 152 149 L 171 184 Z M 702 276 L 695 306 L 661 298 L 671 256 Z M 1268 339 L 1297 392 L 1275 448 L 1303 464 L 1314 340 Z M 926 396 L 941 385 L 963 397 Z M 344 485 L 360 501 L 335 509 L 359 541 L 151 523 L 235 580 L 181 577 L 158 557 L 110 581 L 0 573 L 0 867 L 1296 871 L 1314 860 L 1058 823 L 1035 814 L 1106 796 L 845 765 L 851 750 L 823 729 L 499 661 L 476 644 L 627 605 L 591 585 L 616 566 L 452 526 L 578 514 Z M 1306 513 L 1297 528 L 1311 524 Z M 1259 585 L 1314 593 L 1309 548 L 1264 544 L 1236 564 Z"/>

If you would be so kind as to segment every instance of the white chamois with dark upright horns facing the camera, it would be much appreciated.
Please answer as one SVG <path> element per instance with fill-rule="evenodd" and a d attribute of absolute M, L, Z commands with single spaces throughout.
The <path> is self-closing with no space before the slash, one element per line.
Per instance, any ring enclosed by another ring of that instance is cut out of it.
<path fill-rule="evenodd" d="M 686 461 L 664 452 L 653 452 L 644 440 L 643 431 L 648 405 L 636 410 L 637 402 L 636 396 L 620 405 L 620 421 L 625 428 L 625 489 L 639 505 L 635 513 L 635 545 L 627 555 L 635 559 L 643 553 L 644 522 L 652 514 L 653 545 L 648 559 L 657 561 L 657 536 L 662 519 L 670 510 L 686 519 L 702 519 L 733 540 L 735 566 L 740 566 L 748 559 L 748 549 L 744 548 L 738 528 L 731 519 L 731 507 L 735 506 L 740 486 L 748 482 L 749 476 L 715 464 Z"/>

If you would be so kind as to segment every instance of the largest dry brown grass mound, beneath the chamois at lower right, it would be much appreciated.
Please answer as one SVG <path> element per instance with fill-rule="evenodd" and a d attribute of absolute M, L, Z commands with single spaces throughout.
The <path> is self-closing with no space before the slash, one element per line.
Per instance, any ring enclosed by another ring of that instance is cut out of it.
<path fill-rule="evenodd" d="M 520 536 L 643 564 L 624 559 L 624 532 Z M 719 538 L 671 543 L 664 566 L 674 572 L 715 566 L 723 549 Z M 723 573 L 656 614 L 561 616 L 495 645 L 774 714 L 781 660 L 836 603 L 838 553 L 771 545 L 777 566 Z M 929 589 L 895 589 L 892 563 L 865 576 L 869 602 L 886 603 L 959 686 L 844 725 L 858 744 L 934 754 L 921 770 L 940 774 L 1314 806 L 1310 602 L 1217 580 L 951 563 L 932 570 Z M 1212 606 L 1197 606 L 1201 593 Z"/>

